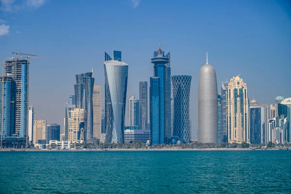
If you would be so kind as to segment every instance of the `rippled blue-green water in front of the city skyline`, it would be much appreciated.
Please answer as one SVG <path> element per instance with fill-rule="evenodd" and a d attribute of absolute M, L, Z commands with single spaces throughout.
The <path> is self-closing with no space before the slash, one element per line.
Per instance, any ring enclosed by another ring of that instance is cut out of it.
<path fill-rule="evenodd" d="M 291 150 L 0 152 L 0 193 L 291 193 Z"/>

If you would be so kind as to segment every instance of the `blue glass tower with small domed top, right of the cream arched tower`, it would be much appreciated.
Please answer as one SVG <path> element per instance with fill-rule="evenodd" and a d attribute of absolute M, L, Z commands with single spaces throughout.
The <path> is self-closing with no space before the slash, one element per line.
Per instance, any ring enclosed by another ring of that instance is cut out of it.
<path fill-rule="evenodd" d="M 255 99 L 250 103 L 250 143 L 264 144 L 266 132 L 265 106 L 258 106 Z"/>

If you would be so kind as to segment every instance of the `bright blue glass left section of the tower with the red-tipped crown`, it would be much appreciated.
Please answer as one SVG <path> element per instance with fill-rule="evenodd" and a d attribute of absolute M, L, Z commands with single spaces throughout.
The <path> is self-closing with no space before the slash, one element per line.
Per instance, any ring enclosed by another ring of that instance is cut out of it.
<path fill-rule="evenodd" d="M 149 124 L 150 124 L 150 144 L 163 143 L 163 131 L 160 120 L 160 78 L 151 77 L 149 87 Z M 162 122 L 161 122 L 162 121 Z"/>

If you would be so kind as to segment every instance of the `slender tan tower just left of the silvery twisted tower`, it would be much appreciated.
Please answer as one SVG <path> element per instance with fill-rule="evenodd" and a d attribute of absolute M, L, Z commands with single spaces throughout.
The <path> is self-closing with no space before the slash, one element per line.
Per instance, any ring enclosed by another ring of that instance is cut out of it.
<path fill-rule="evenodd" d="M 101 86 L 93 88 L 93 138 L 101 138 Z"/>

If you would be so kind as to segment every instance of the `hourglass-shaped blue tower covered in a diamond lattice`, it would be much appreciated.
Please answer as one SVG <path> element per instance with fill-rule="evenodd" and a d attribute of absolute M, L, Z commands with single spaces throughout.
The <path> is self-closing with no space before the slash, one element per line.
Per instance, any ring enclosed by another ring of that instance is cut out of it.
<path fill-rule="evenodd" d="M 172 76 L 174 97 L 174 130 L 182 143 L 191 141 L 189 100 L 191 76 Z"/>

